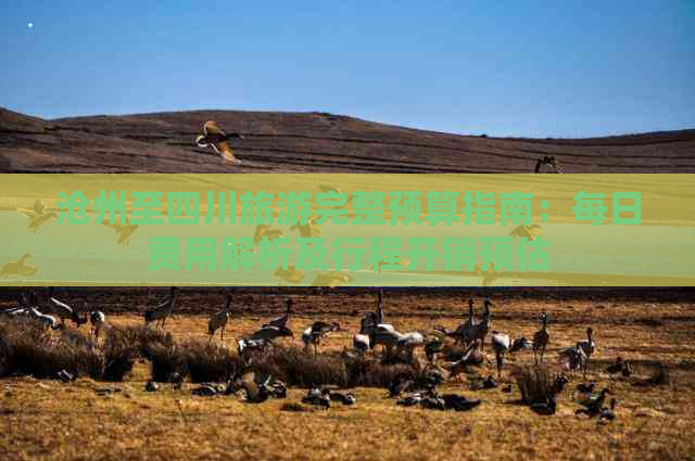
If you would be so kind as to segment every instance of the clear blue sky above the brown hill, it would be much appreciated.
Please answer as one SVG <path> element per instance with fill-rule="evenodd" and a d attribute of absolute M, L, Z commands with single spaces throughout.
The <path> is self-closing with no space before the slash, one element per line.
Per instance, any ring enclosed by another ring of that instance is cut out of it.
<path fill-rule="evenodd" d="M 0 105 L 47 118 L 235 108 L 491 136 L 695 128 L 694 0 L 5 0 L 0 59 Z"/>

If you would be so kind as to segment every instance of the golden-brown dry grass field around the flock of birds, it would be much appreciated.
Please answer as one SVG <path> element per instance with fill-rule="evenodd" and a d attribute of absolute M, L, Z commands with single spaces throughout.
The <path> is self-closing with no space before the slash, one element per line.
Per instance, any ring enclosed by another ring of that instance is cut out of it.
<path fill-rule="evenodd" d="M 111 290 L 111 289 L 109 289 Z M 162 291 L 163 293 L 164 291 Z M 372 292 L 371 292 L 372 293 Z M 287 294 L 245 293 L 230 320 L 224 344 L 248 334 L 278 316 Z M 374 307 L 372 294 L 338 292 L 317 296 L 293 293 L 296 316 L 290 321 L 294 340 L 314 320 L 337 321 L 341 331 L 329 336 L 321 351 L 338 351 L 352 344 L 359 312 Z M 400 331 L 427 332 L 434 325 L 455 326 L 466 311 L 468 294 L 445 290 L 410 291 L 387 295 L 384 317 Z M 108 313 L 111 325 L 139 324 L 147 296 L 136 292 L 70 292 L 61 298 L 81 298 Z M 286 411 L 306 389 L 291 388 L 285 400 L 244 404 L 240 397 L 194 397 L 191 383 L 180 390 L 162 384 L 144 392 L 150 376 L 147 362 L 137 363 L 124 382 L 102 383 L 78 377 L 73 383 L 30 376 L 0 380 L 1 460 L 632 460 L 695 459 L 695 302 L 679 296 L 545 295 L 507 296 L 494 292 L 492 329 L 530 338 L 538 315 L 551 316 L 547 361 L 558 368 L 557 350 L 584 337 L 586 326 L 596 332 L 597 351 L 586 381 L 609 387 L 619 400 L 618 418 L 608 424 L 577 417 L 573 401 L 581 373 L 571 379 L 558 398 L 555 415 L 540 417 L 515 405 L 517 387 L 469 388 L 471 375 L 447 382 L 443 389 L 481 398 L 468 412 L 402 408 L 384 388 L 356 388 L 352 407 L 328 410 L 305 407 Z M 2 300 L 9 307 L 9 296 Z M 179 313 L 167 321 L 176 341 L 206 340 L 207 312 L 220 309 L 220 289 L 184 293 Z M 129 310 L 129 312 L 128 312 Z M 201 312 L 194 315 L 193 312 Z M 180 313 L 184 312 L 184 313 Z M 204 312 L 204 313 L 203 313 Z M 87 333 L 87 329 L 83 326 Z M 220 343 L 219 336 L 213 340 Z M 494 356 L 485 344 L 490 363 L 477 371 L 494 373 Z M 372 353 L 370 353 L 372 354 Z M 421 351 L 418 354 L 421 355 Z M 608 363 L 620 355 L 635 363 L 636 377 L 611 377 Z M 503 382 L 514 382 L 510 370 L 531 362 L 522 351 L 507 360 Z M 662 362 L 670 371 L 666 385 L 632 384 Z M 110 388 L 113 392 L 98 393 Z"/>

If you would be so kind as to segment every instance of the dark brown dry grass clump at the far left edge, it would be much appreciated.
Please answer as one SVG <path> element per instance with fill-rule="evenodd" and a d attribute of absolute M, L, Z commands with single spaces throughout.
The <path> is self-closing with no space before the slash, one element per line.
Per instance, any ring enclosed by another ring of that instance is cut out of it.
<path fill-rule="evenodd" d="M 101 377 L 103 358 L 77 331 L 50 331 L 27 318 L 3 319 L 0 324 L 0 375 L 54 377 L 61 370 Z"/>

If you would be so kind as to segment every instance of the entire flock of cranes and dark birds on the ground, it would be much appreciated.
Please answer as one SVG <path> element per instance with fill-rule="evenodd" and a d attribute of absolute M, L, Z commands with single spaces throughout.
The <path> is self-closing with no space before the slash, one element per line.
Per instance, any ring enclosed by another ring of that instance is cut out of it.
<path fill-rule="evenodd" d="M 164 329 L 166 320 L 174 313 L 177 299 L 177 289 L 172 287 L 167 299 L 143 313 L 146 324 L 154 323 L 155 329 Z M 210 341 L 219 332 L 219 340 L 225 340 L 225 329 L 232 318 L 232 294 L 227 294 L 226 306 L 212 315 L 207 323 L 207 334 Z M 546 347 L 549 344 L 551 335 L 548 333 L 548 316 L 544 312 L 539 318 L 539 330 L 533 334 L 533 340 L 528 341 L 523 336 L 513 338 L 509 334 L 491 330 L 491 307 L 494 304 L 485 298 L 483 302 L 483 312 L 480 319 L 475 317 L 475 302 L 472 298 L 468 302 L 468 316 L 460 324 L 448 330 L 443 326 L 435 326 L 432 331 L 420 332 L 399 332 L 393 324 L 388 323 L 383 312 L 383 294 L 379 290 L 377 296 L 376 308 L 365 312 L 359 322 L 359 330 L 353 334 L 352 349 L 348 346 L 343 348 L 341 357 L 345 360 L 356 359 L 369 354 L 378 346 L 381 346 L 382 362 L 404 361 L 413 362 L 419 360 L 415 356 L 417 349 L 422 349 L 427 358 L 427 367 L 430 372 L 427 374 L 429 380 L 421 388 L 414 387 L 414 382 L 407 379 L 397 379 L 390 386 L 392 396 L 397 396 L 396 401 L 400 406 L 419 405 L 430 409 L 454 409 L 456 411 L 466 411 L 476 408 L 480 400 L 470 400 L 464 396 L 455 394 L 439 395 L 434 388 L 445 380 L 455 377 L 460 379 L 460 374 L 470 366 L 479 366 L 484 359 L 483 345 L 488 336 L 490 336 L 490 345 L 495 355 L 495 363 L 497 379 L 502 376 L 504 368 L 504 358 L 507 354 L 519 353 L 522 349 L 532 348 L 534 353 L 534 362 L 543 363 Z M 87 313 L 88 312 L 88 313 Z M 78 312 L 73 307 L 59 300 L 53 293 L 53 289 L 49 289 L 46 300 L 40 303 L 34 293 L 29 296 L 22 295 L 20 306 L 3 312 L 8 316 L 24 316 L 33 318 L 46 325 L 46 328 L 56 330 L 64 326 L 65 321 L 72 321 L 77 326 L 90 322 L 91 335 L 97 341 L 99 334 L 106 324 L 106 318 L 103 312 L 98 310 L 89 311 L 87 303 L 84 303 L 84 309 Z M 261 324 L 261 326 L 237 338 L 237 347 L 240 357 L 249 364 L 252 360 L 267 353 L 274 347 L 277 340 L 281 337 L 293 337 L 294 334 L 289 328 L 294 311 L 292 309 L 292 299 L 287 298 L 285 313 Z M 321 341 L 333 332 L 341 331 L 336 322 L 317 320 L 311 326 L 302 331 L 301 340 L 304 348 L 308 354 L 318 354 Z M 455 344 L 460 346 L 459 350 L 452 356 L 446 351 L 445 345 Z M 589 360 L 596 350 L 596 343 L 593 336 L 593 330 L 586 330 L 586 338 L 578 341 L 573 346 L 564 348 L 559 351 L 561 363 L 567 370 L 580 370 L 587 372 Z M 375 353 L 376 354 L 376 353 Z M 440 358 L 441 356 L 441 358 Z M 609 366 L 606 371 L 610 374 L 622 374 L 629 376 L 632 373 L 632 367 L 622 358 L 618 357 L 616 363 Z M 561 387 L 567 380 L 560 375 L 560 380 L 556 385 Z M 62 377 L 61 377 L 62 379 Z M 483 388 L 495 387 L 496 381 L 489 376 L 483 382 Z M 148 383 L 149 390 L 156 390 L 155 383 Z M 180 383 L 179 383 L 180 387 Z M 247 401 L 260 402 L 269 397 L 285 396 L 287 388 L 283 383 L 275 381 L 270 377 L 266 380 L 261 376 L 254 376 L 244 372 L 237 376 L 232 376 L 227 383 L 226 388 L 217 389 L 211 385 L 204 385 L 194 389 L 195 395 L 215 395 L 216 393 L 236 393 L 243 389 Z M 417 390 L 414 390 L 417 389 Z M 503 388 L 504 390 L 504 388 Z M 508 392 L 508 390 L 505 390 Z M 598 417 L 599 421 L 609 421 L 615 418 L 616 400 L 612 399 L 610 406 L 605 405 L 606 395 L 610 390 L 603 389 L 598 394 L 593 394 L 594 384 L 580 384 L 578 392 L 583 398 L 580 400 L 582 409 L 578 410 L 578 414 L 586 414 L 590 418 Z M 302 400 L 305 404 L 317 405 L 321 407 L 330 406 L 331 401 L 340 401 L 343 405 L 352 405 L 355 401 L 353 394 L 341 394 L 330 392 L 326 388 L 312 387 L 306 397 Z M 543 404 L 531 405 L 531 410 L 539 414 L 553 414 L 555 412 L 554 399 Z"/>

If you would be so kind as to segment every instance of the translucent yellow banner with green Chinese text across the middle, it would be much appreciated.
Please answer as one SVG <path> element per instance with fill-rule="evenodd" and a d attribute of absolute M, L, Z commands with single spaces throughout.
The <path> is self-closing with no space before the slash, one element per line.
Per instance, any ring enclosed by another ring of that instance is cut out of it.
<path fill-rule="evenodd" d="M 693 175 L 0 175 L 0 284 L 690 286 L 693 209 Z"/>

